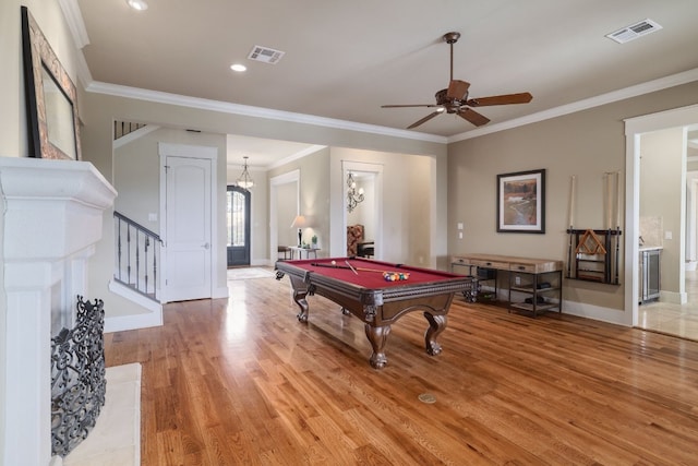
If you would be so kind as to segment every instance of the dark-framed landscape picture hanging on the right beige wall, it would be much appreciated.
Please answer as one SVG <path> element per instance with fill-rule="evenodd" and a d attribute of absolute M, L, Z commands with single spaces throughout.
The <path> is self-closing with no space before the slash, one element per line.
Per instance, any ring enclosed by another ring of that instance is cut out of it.
<path fill-rule="evenodd" d="M 545 232 L 545 170 L 497 175 L 497 231 Z"/>

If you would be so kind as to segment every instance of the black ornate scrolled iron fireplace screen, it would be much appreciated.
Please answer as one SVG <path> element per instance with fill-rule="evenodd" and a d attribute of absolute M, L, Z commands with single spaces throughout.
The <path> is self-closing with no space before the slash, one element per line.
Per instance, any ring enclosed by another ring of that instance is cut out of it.
<path fill-rule="evenodd" d="M 75 327 L 51 338 L 51 451 L 65 456 L 95 427 L 105 405 L 105 311 L 77 297 Z"/>

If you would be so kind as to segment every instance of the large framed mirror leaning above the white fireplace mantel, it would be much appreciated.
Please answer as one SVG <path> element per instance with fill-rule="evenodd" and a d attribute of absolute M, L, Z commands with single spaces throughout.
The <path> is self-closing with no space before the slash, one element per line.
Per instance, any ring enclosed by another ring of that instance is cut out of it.
<path fill-rule="evenodd" d="M 26 7 L 22 7 L 22 59 L 29 156 L 80 160 L 75 85 Z"/>

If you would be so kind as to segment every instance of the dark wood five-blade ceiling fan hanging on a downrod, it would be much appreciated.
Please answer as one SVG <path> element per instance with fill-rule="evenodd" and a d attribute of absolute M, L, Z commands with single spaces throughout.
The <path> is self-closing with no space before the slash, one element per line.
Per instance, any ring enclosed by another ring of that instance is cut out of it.
<path fill-rule="evenodd" d="M 460 118 L 470 121 L 476 127 L 481 127 L 490 122 L 485 116 L 477 112 L 470 107 L 484 107 L 490 105 L 528 104 L 533 96 L 530 93 L 504 94 L 490 97 L 468 98 L 470 83 L 454 80 L 454 44 L 460 38 L 460 33 L 444 34 L 444 41 L 450 46 L 450 82 L 448 88 L 441 89 L 435 94 L 436 104 L 418 105 L 382 105 L 381 108 L 397 107 L 436 107 L 436 110 L 426 117 L 407 127 L 408 130 L 417 128 L 441 113 L 456 113 Z"/>

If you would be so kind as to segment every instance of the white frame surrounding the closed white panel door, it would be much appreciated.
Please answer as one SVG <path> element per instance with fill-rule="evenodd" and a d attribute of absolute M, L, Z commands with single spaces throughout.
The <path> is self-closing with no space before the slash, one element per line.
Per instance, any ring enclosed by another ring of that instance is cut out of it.
<path fill-rule="evenodd" d="M 188 144 L 172 144 L 172 143 L 158 143 L 158 155 L 160 157 L 160 238 L 164 242 L 164 253 L 160 254 L 160 274 L 159 286 L 163 290 L 160 302 L 165 304 L 169 302 L 167 296 L 167 157 L 185 157 L 185 158 L 198 158 L 210 162 L 210 290 L 209 298 L 215 296 L 216 290 L 216 267 L 218 265 L 219 241 L 218 241 L 218 228 L 216 226 L 216 218 L 218 213 L 218 198 L 216 195 L 216 187 L 218 184 L 218 148 L 201 145 L 188 145 Z"/>

